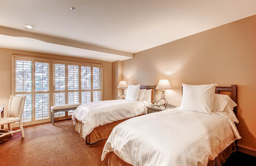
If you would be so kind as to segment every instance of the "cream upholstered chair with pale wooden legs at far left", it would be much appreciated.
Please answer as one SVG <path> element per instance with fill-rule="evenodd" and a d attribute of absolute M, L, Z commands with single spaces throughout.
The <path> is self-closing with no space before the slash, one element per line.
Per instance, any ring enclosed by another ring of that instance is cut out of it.
<path fill-rule="evenodd" d="M 0 138 L 4 137 L 5 135 L 11 135 L 13 136 L 13 133 L 15 132 L 21 132 L 21 137 L 24 138 L 24 130 L 22 126 L 22 113 L 24 109 L 26 96 L 20 97 L 20 96 L 13 96 L 11 95 L 10 101 L 9 101 L 9 108 L 8 108 L 8 115 L 7 117 L 0 118 L 0 126 L 4 124 L 8 124 L 8 130 L 2 129 L 0 132 Z M 11 123 L 19 122 L 20 123 L 20 129 L 12 131 Z"/>

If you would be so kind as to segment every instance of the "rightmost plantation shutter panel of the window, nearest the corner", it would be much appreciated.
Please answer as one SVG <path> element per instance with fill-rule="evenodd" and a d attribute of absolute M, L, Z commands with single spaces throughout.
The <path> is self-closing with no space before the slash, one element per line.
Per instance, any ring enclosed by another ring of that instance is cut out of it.
<path fill-rule="evenodd" d="M 102 79 L 102 76 L 101 76 L 101 71 L 102 71 L 102 68 L 101 66 L 96 66 L 94 65 L 92 67 L 92 74 L 93 74 L 93 78 L 92 78 L 92 87 L 93 87 L 93 102 L 99 102 L 102 100 L 102 97 L 101 97 L 101 79 Z"/>

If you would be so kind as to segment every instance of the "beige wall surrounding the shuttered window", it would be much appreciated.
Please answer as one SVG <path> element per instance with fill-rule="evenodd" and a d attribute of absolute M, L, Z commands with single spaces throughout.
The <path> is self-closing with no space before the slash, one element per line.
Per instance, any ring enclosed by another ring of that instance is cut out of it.
<path fill-rule="evenodd" d="M 8 109 L 8 102 L 11 95 L 11 55 L 27 55 L 32 57 L 41 57 L 49 59 L 58 59 L 58 60 L 67 60 L 67 61 L 76 61 L 76 62 L 85 62 L 85 63 L 95 63 L 102 64 L 102 81 L 103 81 L 103 96 L 102 100 L 111 100 L 112 99 L 112 64 L 111 62 L 76 58 L 76 57 L 66 57 L 59 55 L 50 55 L 42 54 L 36 52 L 28 52 L 14 49 L 3 49 L 0 48 L 0 103 L 6 103 L 5 110 Z M 7 111 L 4 112 L 4 115 L 7 115 Z"/>

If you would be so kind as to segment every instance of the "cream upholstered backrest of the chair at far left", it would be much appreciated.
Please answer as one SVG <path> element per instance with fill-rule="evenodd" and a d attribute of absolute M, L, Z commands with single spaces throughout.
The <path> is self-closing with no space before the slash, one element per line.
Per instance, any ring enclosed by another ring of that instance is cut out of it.
<path fill-rule="evenodd" d="M 8 117 L 19 117 L 21 119 L 26 96 L 11 95 L 8 108 Z"/>

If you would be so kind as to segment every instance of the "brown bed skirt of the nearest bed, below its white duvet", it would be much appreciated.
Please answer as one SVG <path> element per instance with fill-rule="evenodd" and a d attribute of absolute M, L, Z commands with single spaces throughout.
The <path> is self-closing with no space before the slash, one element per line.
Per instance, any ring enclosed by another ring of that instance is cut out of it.
<path fill-rule="evenodd" d="M 236 151 L 236 144 L 233 142 L 226 149 L 224 149 L 220 154 L 212 161 L 208 161 L 207 166 L 221 166 L 224 164 L 226 159 L 230 156 L 232 152 Z M 109 153 L 108 166 L 132 166 L 131 164 L 120 159 L 114 152 Z"/>

